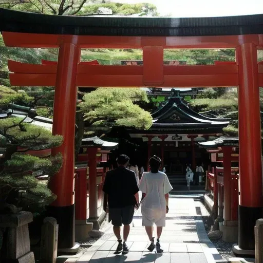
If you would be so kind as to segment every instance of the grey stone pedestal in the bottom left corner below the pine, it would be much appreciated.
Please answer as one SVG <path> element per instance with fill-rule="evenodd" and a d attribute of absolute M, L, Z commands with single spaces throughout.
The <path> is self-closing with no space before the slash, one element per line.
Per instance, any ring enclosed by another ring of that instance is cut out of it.
<path fill-rule="evenodd" d="M 1 262 L 34 263 L 34 254 L 30 251 L 28 223 L 33 221 L 30 212 L 14 215 L 0 215 L 0 228 L 6 228 Z"/>

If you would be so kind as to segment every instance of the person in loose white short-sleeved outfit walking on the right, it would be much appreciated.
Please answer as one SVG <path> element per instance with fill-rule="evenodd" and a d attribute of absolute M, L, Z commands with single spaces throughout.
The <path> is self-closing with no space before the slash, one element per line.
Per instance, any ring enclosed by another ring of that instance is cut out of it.
<path fill-rule="evenodd" d="M 148 235 L 151 245 L 148 250 L 153 251 L 156 247 L 158 253 L 163 250 L 160 246 L 160 237 L 162 228 L 165 227 L 165 214 L 168 213 L 169 192 L 173 189 L 165 173 L 158 171 L 161 165 L 161 159 L 153 156 L 149 159 L 150 172 L 142 175 L 139 189 L 144 193 L 141 201 L 142 207 L 142 226 Z M 154 243 L 153 225 L 157 227 L 157 242 Z"/>

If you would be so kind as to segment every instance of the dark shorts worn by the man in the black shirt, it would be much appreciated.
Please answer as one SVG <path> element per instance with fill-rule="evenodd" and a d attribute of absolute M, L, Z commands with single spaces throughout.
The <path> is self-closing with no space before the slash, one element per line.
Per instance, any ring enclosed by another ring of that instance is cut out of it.
<path fill-rule="evenodd" d="M 115 227 L 121 227 L 122 224 L 130 224 L 134 217 L 134 205 L 125 206 L 125 208 L 109 208 L 109 222 Z"/>

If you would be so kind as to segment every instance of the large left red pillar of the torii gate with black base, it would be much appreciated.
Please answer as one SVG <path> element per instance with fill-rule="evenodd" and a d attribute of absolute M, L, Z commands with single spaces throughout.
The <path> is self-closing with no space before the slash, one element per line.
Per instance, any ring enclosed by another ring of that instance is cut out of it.
<path fill-rule="evenodd" d="M 77 66 L 80 48 L 71 43 L 61 44 L 59 49 L 57 80 L 54 97 L 53 135 L 62 135 L 61 146 L 52 149 L 52 156 L 63 156 L 61 170 L 51 177 L 50 190 L 57 195 L 48 208 L 59 224 L 58 248 L 74 246 L 74 130 L 77 100 Z"/>

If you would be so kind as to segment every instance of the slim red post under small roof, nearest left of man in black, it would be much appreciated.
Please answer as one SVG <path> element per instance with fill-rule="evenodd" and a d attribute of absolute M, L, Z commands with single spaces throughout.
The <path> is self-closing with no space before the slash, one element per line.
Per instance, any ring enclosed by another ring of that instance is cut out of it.
<path fill-rule="evenodd" d="M 89 166 L 89 218 L 98 217 L 97 148 L 88 148 Z"/>

